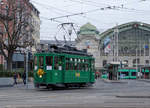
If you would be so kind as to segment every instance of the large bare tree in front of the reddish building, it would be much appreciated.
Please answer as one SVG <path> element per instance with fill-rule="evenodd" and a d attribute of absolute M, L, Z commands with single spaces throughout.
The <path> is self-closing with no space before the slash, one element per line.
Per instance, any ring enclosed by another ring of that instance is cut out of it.
<path fill-rule="evenodd" d="M 33 44 L 31 9 L 26 2 L 27 0 L 7 0 L 6 3 L 1 3 L 0 51 L 7 61 L 8 70 L 12 69 L 12 57 L 16 49 Z"/>

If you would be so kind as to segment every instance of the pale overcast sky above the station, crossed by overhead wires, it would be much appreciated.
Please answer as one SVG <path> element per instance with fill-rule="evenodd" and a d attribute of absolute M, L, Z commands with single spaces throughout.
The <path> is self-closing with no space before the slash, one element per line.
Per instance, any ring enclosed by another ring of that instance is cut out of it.
<path fill-rule="evenodd" d="M 31 0 L 31 2 L 40 11 L 40 39 L 54 40 L 56 36 L 62 40 L 66 32 L 59 25 L 67 22 L 74 23 L 76 30 L 90 22 L 100 32 L 116 24 L 131 21 L 150 23 L 150 0 Z M 59 23 L 49 20 L 81 12 L 85 14 L 55 19 Z M 72 40 L 75 38 L 73 35 Z"/>

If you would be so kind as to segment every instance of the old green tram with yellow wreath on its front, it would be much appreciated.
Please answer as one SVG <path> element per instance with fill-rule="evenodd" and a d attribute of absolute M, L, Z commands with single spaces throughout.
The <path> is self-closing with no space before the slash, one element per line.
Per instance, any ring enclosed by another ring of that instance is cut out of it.
<path fill-rule="evenodd" d="M 35 87 L 83 87 L 95 82 L 95 60 L 85 50 L 51 45 L 34 55 Z"/>

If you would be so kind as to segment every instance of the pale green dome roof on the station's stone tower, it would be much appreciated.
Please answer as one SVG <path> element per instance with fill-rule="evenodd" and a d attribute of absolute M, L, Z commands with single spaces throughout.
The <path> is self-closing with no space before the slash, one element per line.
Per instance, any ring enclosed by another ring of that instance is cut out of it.
<path fill-rule="evenodd" d="M 79 35 L 98 35 L 99 31 L 96 26 L 90 24 L 89 22 L 80 27 L 78 31 Z"/>

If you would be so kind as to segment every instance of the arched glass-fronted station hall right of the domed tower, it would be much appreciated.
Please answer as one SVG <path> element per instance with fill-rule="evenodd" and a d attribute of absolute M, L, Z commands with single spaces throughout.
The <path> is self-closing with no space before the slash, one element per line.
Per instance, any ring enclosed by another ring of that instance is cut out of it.
<path fill-rule="evenodd" d="M 150 24 L 129 22 L 100 34 L 100 67 L 111 61 L 126 62 L 127 67 L 150 63 Z"/>

